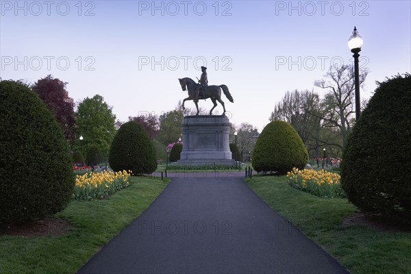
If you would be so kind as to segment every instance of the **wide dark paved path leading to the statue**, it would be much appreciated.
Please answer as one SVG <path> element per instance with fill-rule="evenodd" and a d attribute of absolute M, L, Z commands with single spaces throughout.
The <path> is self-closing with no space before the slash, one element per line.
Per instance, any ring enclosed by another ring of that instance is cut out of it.
<path fill-rule="evenodd" d="M 348 273 L 256 196 L 244 173 L 169 177 L 78 273 Z"/>

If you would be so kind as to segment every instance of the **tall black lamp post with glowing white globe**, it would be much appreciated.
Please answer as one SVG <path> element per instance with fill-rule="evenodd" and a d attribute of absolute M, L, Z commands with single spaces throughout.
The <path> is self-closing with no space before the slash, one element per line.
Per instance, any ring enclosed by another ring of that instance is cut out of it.
<path fill-rule="evenodd" d="M 352 53 L 354 53 L 354 84 L 356 89 L 356 120 L 360 119 L 360 69 L 358 68 L 358 58 L 361 51 L 361 47 L 364 41 L 362 37 L 357 32 L 357 28 L 354 27 L 353 35 L 348 40 L 348 47 Z"/>

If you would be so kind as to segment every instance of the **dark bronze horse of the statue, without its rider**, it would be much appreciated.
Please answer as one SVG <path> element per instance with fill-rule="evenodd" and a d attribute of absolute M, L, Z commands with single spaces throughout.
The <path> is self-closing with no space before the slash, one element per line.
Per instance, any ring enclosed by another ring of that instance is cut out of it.
<path fill-rule="evenodd" d="M 212 103 L 214 103 L 214 107 L 212 107 L 212 109 L 210 110 L 210 115 L 212 114 L 212 110 L 214 110 L 214 108 L 217 106 L 217 102 L 219 101 L 221 103 L 221 105 L 223 105 L 223 115 L 225 114 L 225 105 L 223 100 L 221 100 L 221 89 L 224 92 L 225 97 L 227 97 L 227 99 L 234 103 L 234 99 L 232 97 L 232 95 L 229 93 L 229 90 L 227 88 L 227 86 L 225 85 L 220 85 L 220 86 L 208 86 L 206 88 L 206 90 L 201 90 L 199 92 L 199 95 L 197 95 L 197 90 L 200 86 L 200 84 L 197 84 L 196 82 L 194 82 L 191 78 L 182 78 L 182 79 L 178 79 L 180 82 L 180 85 L 182 86 L 182 90 L 186 91 L 188 90 L 188 97 L 186 99 L 183 100 L 183 110 L 184 108 L 184 102 L 187 100 L 192 100 L 195 103 L 195 107 L 197 108 L 197 114 L 199 114 L 199 105 L 198 105 L 198 101 L 199 99 L 208 99 L 210 98 Z M 197 97 L 197 98 L 196 98 Z"/>

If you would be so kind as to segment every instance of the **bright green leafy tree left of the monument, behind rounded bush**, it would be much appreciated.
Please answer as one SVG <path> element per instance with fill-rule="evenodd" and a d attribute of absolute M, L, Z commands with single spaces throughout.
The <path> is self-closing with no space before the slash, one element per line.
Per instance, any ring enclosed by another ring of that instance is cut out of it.
<path fill-rule="evenodd" d="M 114 128 L 116 115 L 112 113 L 112 108 L 105 103 L 103 97 L 95 95 L 84 99 L 79 103 L 75 116 L 77 140 L 80 135 L 84 138 L 82 145 L 78 145 L 77 149 L 82 148 L 84 152 L 88 151 L 91 145 L 97 145 L 103 155 L 108 155 L 110 144 L 116 133 Z"/>

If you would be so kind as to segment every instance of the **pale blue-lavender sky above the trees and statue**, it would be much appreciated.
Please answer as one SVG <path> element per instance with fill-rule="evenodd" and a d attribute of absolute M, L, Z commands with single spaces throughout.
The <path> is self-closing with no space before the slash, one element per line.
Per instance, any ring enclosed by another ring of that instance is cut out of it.
<path fill-rule="evenodd" d="M 200 77 L 205 65 L 209 84 L 234 97 L 223 97 L 230 121 L 261 131 L 287 90 L 323 95 L 314 80 L 333 62 L 353 62 L 354 25 L 364 38 L 360 67 L 369 69 L 362 99 L 375 81 L 410 73 L 410 3 L 0 1 L 0 77 L 34 83 L 51 74 L 75 101 L 99 94 L 127 121 L 173 110 L 187 97 L 177 78 Z"/>

